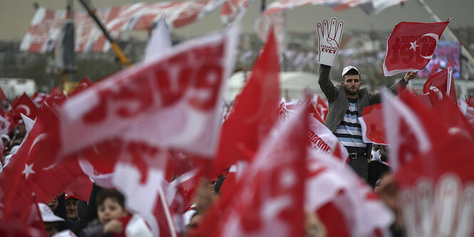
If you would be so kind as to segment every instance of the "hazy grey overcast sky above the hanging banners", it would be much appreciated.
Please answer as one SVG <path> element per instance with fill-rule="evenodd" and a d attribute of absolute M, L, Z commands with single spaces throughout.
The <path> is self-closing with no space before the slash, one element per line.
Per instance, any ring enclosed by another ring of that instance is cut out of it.
<path fill-rule="evenodd" d="M 91 0 L 96 8 L 106 6 L 120 6 L 133 2 L 130 0 Z M 253 31 L 253 21 L 259 14 L 262 0 L 255 0 L 249 6 L 242 20 L 243 31 Z M 67 0 L 36 0 L 40 6 L 47 9 L 65 9 Z M 267 0 L 267 4 L 272 2 Z M 473 0 L 425 0 L 428 6 L 441 20 L 451 18 L 448 27 L 459 28 L 474 26 L 474 1 Z M 0 40 L 21 40 L 29 28 L 29 23 L 34 16 L 33 0 L 2 0 L 0 1 Z M 83 9 L 79 1 L 73 1 L 75 9 Z M 205 19 L 192 23 L 183 28 L 172 30 L 182 36 L 198 36 L 209 31 L 221 28 L 220 9 L 207 16 Z M 330 19 L 335 16 L 344 20 L 344 31 L 351 29 L 376 29 L 391 31 L 400 21 L 433 22 L 418 1 L 408 0 L 402 6 L 392 6 L 378 15 L 366 15 L 360 9 L 349 9 L 335 12 L 326 6 L 303 6 L 299 9 L 287 11 L 287 26 L 290 31 L 315 31 L 317 21 Z"/>

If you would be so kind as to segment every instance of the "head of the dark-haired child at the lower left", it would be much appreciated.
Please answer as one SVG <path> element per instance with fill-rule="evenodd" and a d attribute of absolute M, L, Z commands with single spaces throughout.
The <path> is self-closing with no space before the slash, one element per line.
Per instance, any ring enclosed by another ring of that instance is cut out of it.
<path fill-rule="evenodd" d="M 125 209 L 125 197 L 116 189 L 101 189 L 96 198 L 97 216 L 99 222 L 107 223 L 110 220 L 128 215 Z"/>

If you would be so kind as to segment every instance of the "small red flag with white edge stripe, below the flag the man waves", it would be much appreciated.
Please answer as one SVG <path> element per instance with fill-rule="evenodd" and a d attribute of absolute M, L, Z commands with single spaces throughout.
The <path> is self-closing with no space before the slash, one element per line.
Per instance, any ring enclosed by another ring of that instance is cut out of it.
<path fill-rule="evenodd" d="M 423 93 L 437 93 L 440 92 L 441 96 L 449 95 L 454 101 L 456 100 L 456 90 L 453 80 L 453 71 L 445 68 L 440 70 L 438 73 L 431 75 L 426 83 L 423 84 Z M 430 96 L 431 100 L 437 98 Z M 440 98 L 438 98 L 440 100 Z"/>

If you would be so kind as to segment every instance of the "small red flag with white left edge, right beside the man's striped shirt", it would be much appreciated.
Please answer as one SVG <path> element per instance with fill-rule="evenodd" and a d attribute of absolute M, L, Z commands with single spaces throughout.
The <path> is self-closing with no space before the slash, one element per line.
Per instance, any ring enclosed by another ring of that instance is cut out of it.
<path fill-rule="evenodd" d="M 364 108 L 359 117 L 362 127 L 362 139 L 366 143 L 388 144 L 385 137 L 385 123 L 381 120 L 383 104 L 379 103 Z"/>

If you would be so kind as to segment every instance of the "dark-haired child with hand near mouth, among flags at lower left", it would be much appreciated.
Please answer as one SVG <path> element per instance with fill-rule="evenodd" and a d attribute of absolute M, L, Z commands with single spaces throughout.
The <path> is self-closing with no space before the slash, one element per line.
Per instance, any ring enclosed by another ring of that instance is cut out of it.
<path fill-rule="evenodd" d="M 140 216 L 128 214 L 125 198 L 115 189 L 101 189 L 96 197 L 98 218 L 81 231 L 81 237 L 152 236 Z"/>

